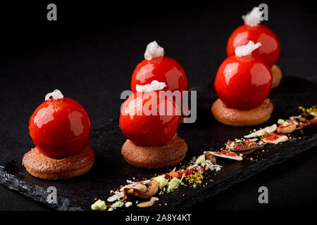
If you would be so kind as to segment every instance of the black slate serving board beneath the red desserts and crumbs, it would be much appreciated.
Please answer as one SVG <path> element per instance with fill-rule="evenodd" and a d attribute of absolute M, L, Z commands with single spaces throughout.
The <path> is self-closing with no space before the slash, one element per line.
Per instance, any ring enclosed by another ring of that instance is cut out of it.
<path fill-rule="evenodd" d="M 200 155 L 204 150 L 217 150 L 223 147 L 228 139 L 240 138 L 249 134 L 252 129 L 259 129 L 275 123 L 278 118 L 299 115 L 297 107 L 308 107 L 316 104 L 317 84 L 304 79 L 285 77 L 282 84 L 273 89 L 270 94 L 275 110 L 270 120 L 265 124 L 254 127 L 228 127 L 217 122 L 211 115 L 210 108 L 217 96 L 212 84 L 193 88 L 197 90 L 197 122 L 181 124 L 178 134 L 185 139 L 189 151 L 184 162 L 188 162 L 193 155 Z M 299 139 L 299 137 L 301 137 Z M 22 159 L 7 162 L 0 166 L 0 184 L 18 191 L 41 203 L 54 207 L 56 210 L 90 210 L 94 198 L 106 199 L 109 191 L 127 179 L 148 179 L 154 174 L 168 172 L 169 169 L 137 169 L 128 165 L 120 155 L 120 148 L 125 136 L 118 127 L 118 119 L 111 120 L 104 127 L 92 130 L 90 146 L 95 150 L 96 161 L 94 167 L 85 175 L 75 179 L 63 181 L 46 181 L 36 179 L 28 174 L 22 166 Z M 233 184 L 244 181 L 250 176 L 258 174 L 268 167 L 277 165 L 299 153 L 317 146 L 317 126 L 304 129 L 304 134 L 295 131 L 292 140 L 280 143 L 278 146 L 268 146 L 265 152 L 250 155 L 253 161 L 218 160 L 223 165 L 221 172 L 211 173 L 203 181 L 205 186 L 190 188 L 182 186 L 177 191 L 160 195 L 160 203 L 147 209 L 130 207 L 125 210 L 183 210 L 195 203 L 220 193 Z M 25 149 L 25 152 L 27 149 Z M 210 180 L 213 181 L 210 181 Z M 46 189 L 55 186 L 58 203 L 46 202 Z M 162 204 L 163 205 L 163 204 Z"/>

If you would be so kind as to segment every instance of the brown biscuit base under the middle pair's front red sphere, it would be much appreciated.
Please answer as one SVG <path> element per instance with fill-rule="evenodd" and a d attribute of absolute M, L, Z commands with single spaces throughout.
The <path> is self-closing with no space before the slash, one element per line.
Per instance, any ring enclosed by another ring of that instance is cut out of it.
<path fill-rule="evenodd" d="M 121 153 L 134 167 L 163 168 L 181 162 L 187 153 L 187 144 L 179 136 L 164 146 L 136 146 L 127 140 L 122 146 Z"/>

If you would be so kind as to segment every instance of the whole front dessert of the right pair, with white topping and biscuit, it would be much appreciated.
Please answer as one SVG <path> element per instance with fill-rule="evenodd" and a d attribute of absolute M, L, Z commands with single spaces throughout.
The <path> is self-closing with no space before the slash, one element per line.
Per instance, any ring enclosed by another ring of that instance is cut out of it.
<path fill-rule="evenodd" d="M 223 124 L 242 127 L 266 122 L 273 112 L 267 98 L 272 85 L 272 73 L 265 61 L 252 54 L 261 44 L 250 41 L 236 48 L 220 65 L 215 79 L 218 99 L 211 112 Z"/>

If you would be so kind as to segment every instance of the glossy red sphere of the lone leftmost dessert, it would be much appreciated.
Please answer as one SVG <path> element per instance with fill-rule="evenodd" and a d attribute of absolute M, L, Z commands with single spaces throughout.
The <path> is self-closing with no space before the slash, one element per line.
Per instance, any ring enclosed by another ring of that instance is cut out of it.
<path fill-rule="evenodd" d="M 89 142 L 90 122 L 85 108 L 71 98 L 44 101 L 30 117 L 30 136 L 49 158 L 79 153 Z"/>

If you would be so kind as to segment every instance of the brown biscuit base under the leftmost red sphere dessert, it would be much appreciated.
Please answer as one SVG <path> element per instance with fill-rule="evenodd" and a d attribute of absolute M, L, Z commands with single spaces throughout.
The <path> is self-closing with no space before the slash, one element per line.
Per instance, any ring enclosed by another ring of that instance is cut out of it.
<path fill-rule="evenodd" d="M 41 179 L 68 179 L 85 174 L 94 164 L 94 151 L 89 146 L 75 155 L 56 160 L 33 148 L 23 156 L 23 165 L 32 176 Z"/>

